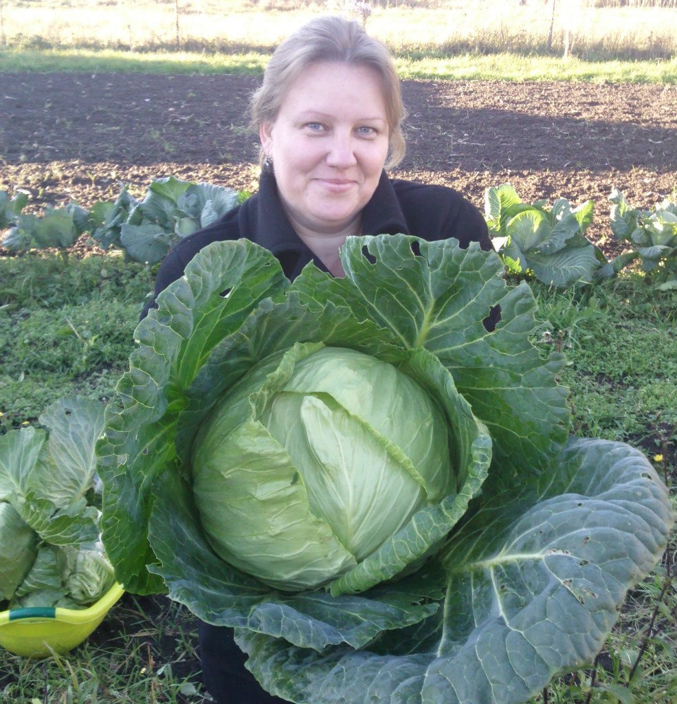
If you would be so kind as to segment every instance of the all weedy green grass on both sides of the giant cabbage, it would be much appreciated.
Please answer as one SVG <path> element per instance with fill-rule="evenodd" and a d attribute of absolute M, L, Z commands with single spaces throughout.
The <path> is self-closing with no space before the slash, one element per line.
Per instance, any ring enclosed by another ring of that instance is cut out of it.
<path fill-rule="evenodd" d="M 54 398 L 113 394 L 153 270 L 119 255 L 32 252 L 0 260 L 0 432 L 34 422 Z M 677 481 L 677 291 L 626 274 L 557 291 L 537 283 L 533 342 L 561 350 L 574 432 L 640 447 Z M 663 455 L 662 460 L 656 455 Z M 676 505 L 677 508 L 677 505 Z M 677 700 L 677 532 L 664 560 L 628 594 L 595 663 L 562 675 L 532 704 L 673 704 Z M 652 626 L 649 629 L 650 625 Z M 203 704 L 194 617 L 165 597 L 126 594 L 71 655 L 0 651 L 0 702 Z"/>

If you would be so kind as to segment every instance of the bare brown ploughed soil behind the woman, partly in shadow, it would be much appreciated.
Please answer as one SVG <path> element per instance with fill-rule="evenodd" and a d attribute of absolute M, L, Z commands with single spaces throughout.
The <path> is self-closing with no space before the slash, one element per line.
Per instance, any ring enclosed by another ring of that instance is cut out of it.
<path fill-rule="evenodd" d="M 155 177 L 256 188 L 241 76 L 4 73 L 0 190 L 30 208 L 141 196 Z M 677 88 L 406 81 L 408 152 L 398 177 L 453 185 L 483 208 L 511 182 L 524 201 L 595 201 L 588 236 L 607 254 L 612 187 L 648 208 L 677 188 Z"/>

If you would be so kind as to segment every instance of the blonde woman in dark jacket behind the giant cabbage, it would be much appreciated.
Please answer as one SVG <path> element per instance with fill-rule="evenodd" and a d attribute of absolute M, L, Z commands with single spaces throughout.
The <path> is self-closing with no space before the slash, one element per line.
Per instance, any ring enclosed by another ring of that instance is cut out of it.
<path fill-rule="evenodd" d="M 179 242 L 158 270 L 156 294 L 205 245 L 241 237 L 271 251 L 290 279 L 310 261 L 343 276 L 339 248 L 350 235 L 455 237 L 491 249 L 481 213 L 457 191 L 386 175 L 404 156 L 405 109 L 391 56 L 358 23 L 319 18 L 286 39 L 251 114 L 261 142 L 258 193 Z M 201 624 L 200 650 L 205 685 L 219 704 L 282 701 L 244 669 L 231 629 Z"/>

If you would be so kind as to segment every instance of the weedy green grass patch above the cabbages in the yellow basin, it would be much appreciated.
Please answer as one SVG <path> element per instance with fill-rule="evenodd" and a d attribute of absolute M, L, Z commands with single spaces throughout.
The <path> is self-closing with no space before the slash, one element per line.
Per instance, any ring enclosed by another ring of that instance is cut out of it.
<path fill-rule="evenodd" d="M 0 266 L 0 427 L 32 422 L 65 395 L 110 398 L 134 348 L 151 270 L 117 255 L 44 252 Z"/>

